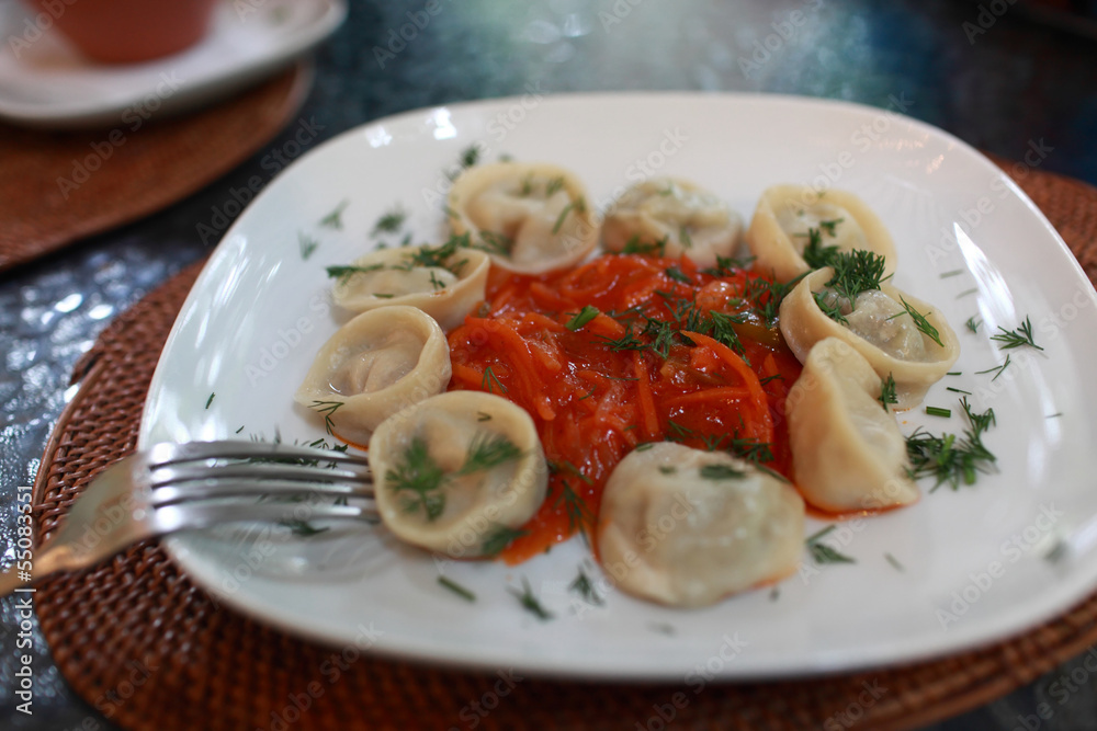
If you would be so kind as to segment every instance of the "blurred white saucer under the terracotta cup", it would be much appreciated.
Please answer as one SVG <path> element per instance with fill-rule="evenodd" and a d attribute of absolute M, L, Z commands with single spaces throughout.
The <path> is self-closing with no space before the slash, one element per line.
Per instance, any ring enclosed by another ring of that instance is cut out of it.
<path fill-rule="evenodd" d="M 60 3 L 58 3 L 60 4 Z M 346 0 L 225 0 L 210 33 L 165 58 L 131 65 L 83 58 L 48 13 L 0 2 L 0 118 L 42 127 L 124 124 L 223 99 L 289 65 L 339 27 Z M 45 30 L 43 30 L 45 28 Z"/>

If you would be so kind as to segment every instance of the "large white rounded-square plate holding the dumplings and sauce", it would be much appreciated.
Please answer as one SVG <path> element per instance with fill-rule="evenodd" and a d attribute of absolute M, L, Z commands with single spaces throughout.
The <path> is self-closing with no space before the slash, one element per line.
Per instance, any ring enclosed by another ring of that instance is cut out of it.
<path fill-rule="evenodd" d="M 834 545 L 855 564 L 805 563 L 777 596 L 762 590 L 702 610 L 634 601 L 600 574 L 606 606 L 586 607 L 567 590 L 586 556 L 578 540 L 517 568 L 441 566 L 476 593 L 468 604 L 436 583 L 440 567 L 430 557 L 394 546 L 383 530 L 276 550 L 278 541 L 264 540 L 258 552 L 210 536 L 171 539 L 172 555 L 208 591 L 336 644 L 466 666 L 703 684 L 954 652 L 1021 631 L 1093 590 L 1097 556 L 1043 558 L 1097 515 L 1093 288 L 1039 210 L 982 156 L 919 122 L 846 103 L 529 95 L 420 110 L 348 132 L 280 175 L 222 241 L 171 332 L 140 443 L 231 437 L 241 429 L 270 438 L 276 427 L 286 441 L 321 436 L 319 420 L 291 397 L 338 325 L 325 265 L 370 248 L 374 222 L 395 204 L 410 212 L 420 236 L 441 236 L 443 170 L 473 142 L 486 145 L 486 159 L 510 153 L 570 168 L 599 206 L 645 170 L 694 180 L 745 217 L 768 185 L 837 179 L 894 233 L 896 285 L 940 307 L 960 333 L 963 375 L 926 400 L 952 407 L 953 416 L 908 413 L 904 430 L 959 431 L 957 395 L 946 387 L 973 391 L 976 409 L 997 414 L 985 441 L 1000 472 L 842 524 Z M 342 201 L 343 229 L 320 226 Z M 307 261 L 302 235 L 318 242 Z M 973 315 L 983 321 L 977 334 L 963 325 Z M 1026 316 L 1044 353 L 1014 351 L 996 381 L 976 375 L 1004 358 L 988 335 Z M 347 566 L 346 556 L 328 556 L 335 549 L 360 555 Z M 553 620 L 539 621 L 508 592 L 523 578 Z"/>

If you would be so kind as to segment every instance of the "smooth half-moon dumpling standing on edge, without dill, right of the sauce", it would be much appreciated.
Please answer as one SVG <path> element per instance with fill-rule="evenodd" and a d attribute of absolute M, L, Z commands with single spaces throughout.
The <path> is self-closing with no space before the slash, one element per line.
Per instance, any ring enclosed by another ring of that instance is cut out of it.
<path fill-rule="evenodd" d="M 918 500 L 906 439 L 880 401 L 882 380 L 848 343 L 815 343 L 785 401 L 796 486 L 825 511 L 880 510 Z"/>

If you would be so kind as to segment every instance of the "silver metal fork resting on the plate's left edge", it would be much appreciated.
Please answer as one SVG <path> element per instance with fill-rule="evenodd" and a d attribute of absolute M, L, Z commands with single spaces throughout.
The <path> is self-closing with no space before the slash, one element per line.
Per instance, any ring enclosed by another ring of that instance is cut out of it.
<path fill-rule="evenodd" d="M 337 500 L 313 500 L 323 496 Z M 301 521 L 291 513 L 302 507 L 307 519 L 376 522 L 366 458 L 261 442 L 157 444 L 97 477 L 57 534 L 34 551 L 32 571 L 16 563 L 0 573 L 0 597 L 57 571 L 93 566 L 144 538 L 222 523 Z"/>

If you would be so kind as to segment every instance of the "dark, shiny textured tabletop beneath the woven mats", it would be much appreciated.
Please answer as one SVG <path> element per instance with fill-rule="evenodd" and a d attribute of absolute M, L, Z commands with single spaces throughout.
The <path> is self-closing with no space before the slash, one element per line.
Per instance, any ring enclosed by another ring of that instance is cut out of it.
<path fill-rule="evenodd" d="M 553 93 L 761 91 L 875 106 L 900 98 L 907 114 L 975 147 L 1013 159 L 1041 147 L 1050 150 L 1041 169 L 1097 184 L 1097 41 L 1011 3 L 987 3 L 997 14 L 980 19 L 980 5 L 945 0 L 444 0 L 405 47 L 378 57 L 375 48 L 425 3 L 351 0 L 347 23 L 316 53 L 298 122 L 263 150 L 166 210 L 0 274 L 0 563 L 14 559 L 16 488 L 33 482 L 72 396 L 77 358 L 126 307 L 210 253 L 205 227 L 229 190 L 253 175 L 269 182 L 276 165 L 267 156 L 299 124 L 318 130 L 310 148 L 388 114 L 521 94 L 528 84 Z M 793 26 L 798 10 L 806 20 Z M 764 53 L 770 35 L 780 43 L 770 38 Z M 14 602 L 0 601 L 0 727 L 114 728 L 68 688 L 36 625 L 30 639 L 33 716 L 15 709 L 16 656 L 27 650 L 16 650 Z M 930 728 L 1097 729 L 1097 676 L 1078 658 Z"/>

